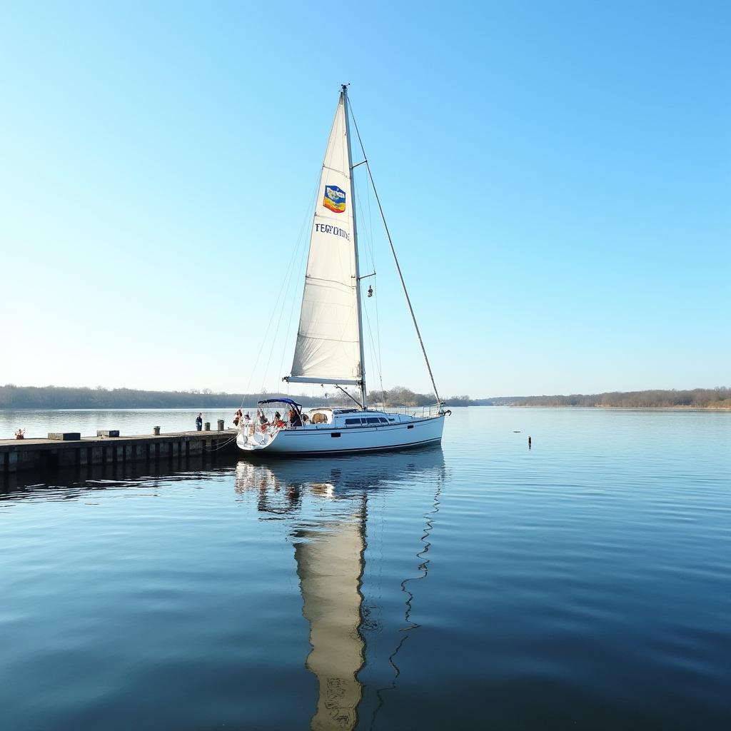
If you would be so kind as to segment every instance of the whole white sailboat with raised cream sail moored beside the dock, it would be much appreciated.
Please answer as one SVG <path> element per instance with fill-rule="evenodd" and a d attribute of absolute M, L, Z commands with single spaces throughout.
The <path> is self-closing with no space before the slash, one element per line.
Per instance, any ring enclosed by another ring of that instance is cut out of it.
<path fill-rule="evenodd" d="M 381 203 L 386 235 L 406 295 L 417 338 L 431 378 L 436 404 L 412 412 L 368 408 L 363 356 L 363 315 L 358 261 L 353 170 L 368 160 L 352 162 L 348 89 L 343 85 L 319 181 L 310 233 L 300 325 L 288 383 L 333 385 L 354 401 L 355 408 L 310 409 L 303 412 L 292 398 L 263 399 L 257 420 L 240 425 L 238 447 L 246 452 L 322 455 L 398 450 L 442 441 L 445 411 L 436 390 L 404 277 L 396 259 Z M 357 128 L 356 128 L 357 132 Z M 359 136 L 360 140 L 360 136 Z M 370 275 L 368 275 L 370 276 Z M 345 390 L 355 386 L 360 399 Z M 276 409 L 276 411 L 275 411 Z M 283 414 L 281 412 L 284 412 Z M 273 414 L 273 415 L 272 415 Z"/>

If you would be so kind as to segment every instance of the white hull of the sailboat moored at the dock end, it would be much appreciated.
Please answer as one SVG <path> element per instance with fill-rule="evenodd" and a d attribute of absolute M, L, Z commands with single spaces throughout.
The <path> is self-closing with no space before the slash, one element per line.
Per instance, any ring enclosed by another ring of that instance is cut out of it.
<path fill-rule="evenodd" d="M 377 452 L 439 444 L 442 441 L 444 414 L 379 426 L 308 425 L 303 428 L 279 429 L 272 435 L 244 433 L 236 444 L 245 452 L 292 455 L 323 455 L 348 452 Z M 338 436 L 339 435 L 339 436 Z"/>

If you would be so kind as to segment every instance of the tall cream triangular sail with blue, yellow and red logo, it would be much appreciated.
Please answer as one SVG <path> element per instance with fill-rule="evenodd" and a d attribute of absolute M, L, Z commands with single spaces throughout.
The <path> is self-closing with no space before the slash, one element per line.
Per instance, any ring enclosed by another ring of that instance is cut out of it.
<path fill-rule="evenodd" d="M 357 279 L 344 96 L 327 143 L 310 234 L 292 376 L 360 379 Z"/>

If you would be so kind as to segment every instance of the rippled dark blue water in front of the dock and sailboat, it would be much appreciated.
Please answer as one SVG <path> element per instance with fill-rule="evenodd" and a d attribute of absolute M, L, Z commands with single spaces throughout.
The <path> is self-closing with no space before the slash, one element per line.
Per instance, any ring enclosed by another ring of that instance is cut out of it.
<path fill-rule="evenodd" d="M 730 437 L 483 407 L 436 450 L 7 482 L 0 727 L 725 731 Z"/>

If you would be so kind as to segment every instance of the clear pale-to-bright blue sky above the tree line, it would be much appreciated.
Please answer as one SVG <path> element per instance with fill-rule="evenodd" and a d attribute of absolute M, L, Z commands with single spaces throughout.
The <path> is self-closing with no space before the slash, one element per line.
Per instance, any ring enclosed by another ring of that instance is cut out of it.
<path fill-rule="evenodd" d="M 731 383 L 727 0 L 126 0 L 0 4 L 0 384 L 278 388 L 344 82 L 442 395 Z"/>

